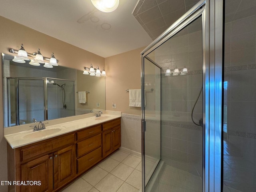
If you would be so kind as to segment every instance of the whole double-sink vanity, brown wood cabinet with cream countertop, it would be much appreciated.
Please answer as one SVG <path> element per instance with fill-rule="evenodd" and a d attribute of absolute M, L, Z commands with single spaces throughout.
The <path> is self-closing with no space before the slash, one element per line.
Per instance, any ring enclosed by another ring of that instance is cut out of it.
<path fill-rule="evenodd" d="M 8 180 L 40 181 L 40 185 L 12 185 L 9 190 L 60 190 L 120 147 L 120 124 L 121 115 L 104 114 L 46 126 L 46 135 L 44 130 L 6 134 Z"/>

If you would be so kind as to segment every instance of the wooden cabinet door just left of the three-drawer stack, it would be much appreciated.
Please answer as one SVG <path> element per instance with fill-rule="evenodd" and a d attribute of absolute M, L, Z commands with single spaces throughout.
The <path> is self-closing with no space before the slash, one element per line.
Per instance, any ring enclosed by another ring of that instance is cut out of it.
<path fill-rule="evenodd" d="M 75 176 L 74 145 L 54 153 L 54 190 L 63 186 Z"/>

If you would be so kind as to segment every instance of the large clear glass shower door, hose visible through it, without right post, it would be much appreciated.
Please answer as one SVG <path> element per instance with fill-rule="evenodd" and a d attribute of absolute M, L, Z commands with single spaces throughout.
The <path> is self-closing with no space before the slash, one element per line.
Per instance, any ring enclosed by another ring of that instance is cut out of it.
<path fill-rule="evenodd" d="M 142 56 L 144 192 L 203 190 L 201 14 Z"/>

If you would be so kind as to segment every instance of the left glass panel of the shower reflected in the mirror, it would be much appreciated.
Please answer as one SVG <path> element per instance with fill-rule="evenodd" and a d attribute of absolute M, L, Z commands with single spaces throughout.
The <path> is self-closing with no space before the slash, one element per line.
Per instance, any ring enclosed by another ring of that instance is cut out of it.
<path fill-rule="evenodd" d="M 18 80 L 19 124 L 44 120 L 44 81 Z"/>

